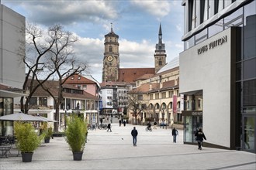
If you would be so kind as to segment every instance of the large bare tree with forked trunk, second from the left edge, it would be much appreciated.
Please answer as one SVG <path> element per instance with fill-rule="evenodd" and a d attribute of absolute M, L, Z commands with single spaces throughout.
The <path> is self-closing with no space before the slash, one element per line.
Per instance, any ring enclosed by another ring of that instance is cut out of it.
<path fill-rule="evenodd" d="M 54 124 L 54 131 L 58 131 L 59 126 L 59 114 L 60 106 L 64 99 L 63 97 L 63 84 L 66 80 L 74 76 L 74 74 L 79 74 L 87 68 L 85 63 L 81 63 L 78 59 L 75 59 L 72 45 L 74 42 L 78 41 L 78 38 L 73 36 L 71 32 L 65 32 L 62 26 L 55 25 L 53 28 L 54 32 L 52 36 L 55 37 L 53 48 L 50 49 L 50 57 L 47 63 L 47 67 L 51 70 L 51 73 L 54 73 L 54 77 L 58 81 L 58 94 L 57 97 L 54 97 L 54 94 L 50 92 L 47 87 L 43 86 L 44 90 L 54 98 L 55 104 L 55 115 L 54 119 L 57 121 Z"/>

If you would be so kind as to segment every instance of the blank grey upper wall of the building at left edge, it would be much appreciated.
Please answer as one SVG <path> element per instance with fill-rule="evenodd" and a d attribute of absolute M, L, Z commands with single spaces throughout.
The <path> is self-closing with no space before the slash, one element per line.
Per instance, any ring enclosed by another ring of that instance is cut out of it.
<path fill-rule="evenodd" d="M 25 80 L 25 64 L 18 55 L 20 47 L 25 49 L 25 26 L 24 16 L 0 5 L 0 83 L 11 87 L 22 88 Z"/>

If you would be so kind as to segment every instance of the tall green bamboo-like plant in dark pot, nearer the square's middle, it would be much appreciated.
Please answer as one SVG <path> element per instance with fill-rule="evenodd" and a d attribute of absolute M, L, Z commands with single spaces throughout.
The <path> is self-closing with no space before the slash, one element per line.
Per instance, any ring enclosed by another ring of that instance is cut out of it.
<path fill-rule="evenodd" d="M 71 118 L 65 130 L 67 144 L 71 147 L 74 161 L 81 161 L 87 136 L 87 123 L 78 116 Z"/>

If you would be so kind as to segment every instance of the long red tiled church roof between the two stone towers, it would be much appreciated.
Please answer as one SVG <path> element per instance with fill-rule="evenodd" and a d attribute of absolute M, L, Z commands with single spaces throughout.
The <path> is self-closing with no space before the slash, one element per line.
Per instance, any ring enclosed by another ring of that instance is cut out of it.
<path fill-rule="evenodd" d="M 154 74 L 154 68 L 126 68 L 119 69 L 119 82 L 134 82 L 144 74 Z"/>

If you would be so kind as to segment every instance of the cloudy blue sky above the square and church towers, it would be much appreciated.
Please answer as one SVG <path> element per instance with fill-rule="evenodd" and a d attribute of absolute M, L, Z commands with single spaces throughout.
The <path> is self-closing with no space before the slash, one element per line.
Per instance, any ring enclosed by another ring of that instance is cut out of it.
<path fill-rule="evenodd" d="M 182 52 L 182 0 L 0 0 L 42 27 L 61 24 L 79 41 L 75 55 L 102 82 L 104 36 L 119 35 L 120 67 L 154 67 L 154 50 L 161 23 L 167 61 Z"/>

